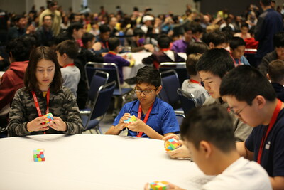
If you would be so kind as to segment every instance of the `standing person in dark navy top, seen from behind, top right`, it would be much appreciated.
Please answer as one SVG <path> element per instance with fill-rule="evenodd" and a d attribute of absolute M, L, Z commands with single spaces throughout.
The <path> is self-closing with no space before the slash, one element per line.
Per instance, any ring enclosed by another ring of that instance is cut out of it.
<path fill-rule="evenodd" d="M 261 63 L 263 56 L 274 50 L 273 36 L 275 33 L 283 31 L 282 16 L 271 8 L 270 0 L 261 0 L 263 14 L 258 17 L 256 24 L 256 41 L 259 41 L 256 52 L 256 65 Z"/>

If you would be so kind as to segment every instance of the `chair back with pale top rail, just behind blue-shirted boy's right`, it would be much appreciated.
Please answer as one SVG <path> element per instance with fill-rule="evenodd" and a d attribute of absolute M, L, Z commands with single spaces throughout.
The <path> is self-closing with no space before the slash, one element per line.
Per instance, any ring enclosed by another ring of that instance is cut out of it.
<path fill-rule="evenodd" d="M 185 79 L 189 78 L 185 62 L 173 62 L 173 63 L 165 62 L 165 63 L 160 63 L 159 65 L 160 73 L 171 69 L 175 70 L 175 72 L 178 74 L 178 80 L 180 82 L 180 86 L 182 85 L 183 81 L 185 81 Z"/>

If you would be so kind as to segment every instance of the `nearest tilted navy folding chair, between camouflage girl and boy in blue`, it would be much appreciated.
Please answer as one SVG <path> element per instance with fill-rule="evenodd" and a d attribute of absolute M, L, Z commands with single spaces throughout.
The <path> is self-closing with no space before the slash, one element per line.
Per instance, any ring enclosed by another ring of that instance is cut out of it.
<path fill-rule="evenodd" d="M 115 87 L 115 81 L 99 87 L 96 98 L 94 100 L 94 105 L 92 106 L 91 114 L 89 116 L 82 115 L 84 131 L 91 130 L 94 128 L 97 134 L 102 134 L 102 130 L 99 127 L 99 122 L 104 118 L 104 115 L 107 113 L 107 109 L 109 108 L 109 104 L 111 102 L 111 97 L 114 93 Z"/>

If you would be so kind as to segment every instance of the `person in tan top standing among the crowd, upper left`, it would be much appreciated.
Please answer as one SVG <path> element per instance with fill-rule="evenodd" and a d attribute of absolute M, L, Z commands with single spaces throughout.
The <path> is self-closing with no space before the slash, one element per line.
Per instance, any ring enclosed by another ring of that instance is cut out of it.
<path fill-rule="evenodd" d="M 62 23 L 62 17 L 60 11 L 58 11 L 58 1 L 48 0 L 48 9 L 45 9 L 40 14 L 39 22 L 40 26 L 43 25 L 43 16 L 51 15 L 53 17 L 53 25 L 51 26 L 51 30 L 53 31 L 54 36 L 58 36 L 60 33 L 60 24 Z"/>

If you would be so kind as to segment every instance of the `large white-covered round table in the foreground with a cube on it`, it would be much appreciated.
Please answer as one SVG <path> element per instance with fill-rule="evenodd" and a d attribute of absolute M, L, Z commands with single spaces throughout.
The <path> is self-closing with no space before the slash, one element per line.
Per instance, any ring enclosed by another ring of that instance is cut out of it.
<path fill-rule="evenodd" d="M 33 149 L 45 162 L 33 162 Z M 163 141 L 99 134 L 0 139 L 0 189 L 143 189 L 170 181 L 197 189 L 208 178 L 194 162 L 170 159 Z"/>

